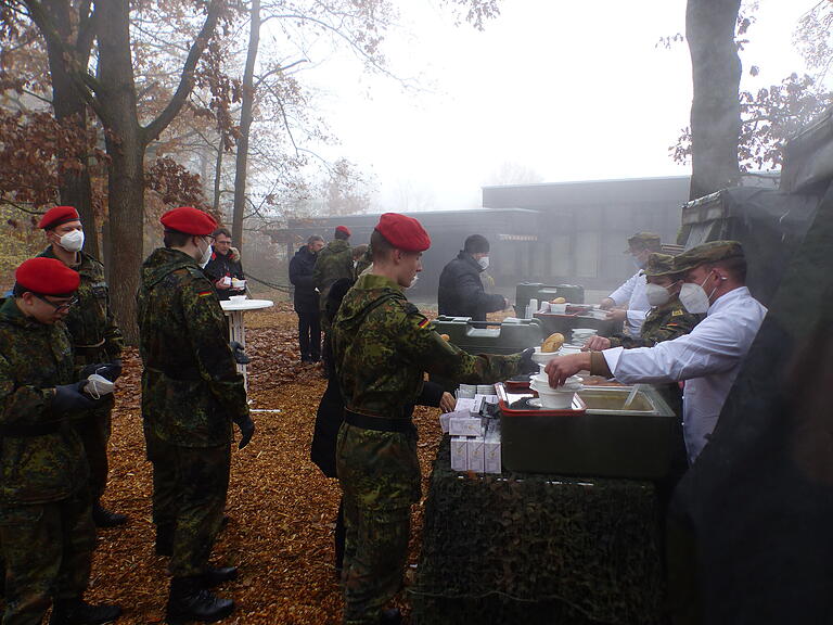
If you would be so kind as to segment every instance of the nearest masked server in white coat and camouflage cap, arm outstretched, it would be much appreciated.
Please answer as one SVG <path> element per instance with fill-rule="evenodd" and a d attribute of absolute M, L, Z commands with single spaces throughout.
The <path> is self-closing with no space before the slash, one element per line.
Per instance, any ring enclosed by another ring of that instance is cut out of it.
<path fill-rule="evenodd" d="M 683 436 L 692 463 L 717 424 L 767 309 L 745 286 L 746 259 L 736 241 L 692 247 L 675 258 L 675 270 L 684 276 L 682 304 L 690 312 L 706 312 L 690 334 L 653 347 L 614 347 L 555 358 L 546 371 L 552 387 L 581 370 L 625 384 L 684 380 Z"/>

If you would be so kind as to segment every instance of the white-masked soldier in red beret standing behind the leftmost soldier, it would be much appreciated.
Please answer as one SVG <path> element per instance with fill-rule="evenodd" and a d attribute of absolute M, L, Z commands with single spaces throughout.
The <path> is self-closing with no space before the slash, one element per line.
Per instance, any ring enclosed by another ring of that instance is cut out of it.
<path fill-rule="evenodd" d="M 69 309 L 64 319 L 73 337 L 76 366 L 110 362 L 116 366 L 114 370 L 120 372 L 124 341 L 110 306 L 104 266 L 81 251 L 84 229 L 77 211 L 72 206 L 55 206 L 43 215 L 38 228 L 43 229 L 49 242 L 49 247 L 40 256 L 57 258 L 81 277 L 76 293 L 78 304 Z M 100 408 L 75 422 L 90 464 L 92 518 L 99 527 L 112 527 L 127 521 L 124 514 L 101 506 L 107 485 L 107 444 L 112 432 L 113 404 L 113 395 L 107 395 Z"/>

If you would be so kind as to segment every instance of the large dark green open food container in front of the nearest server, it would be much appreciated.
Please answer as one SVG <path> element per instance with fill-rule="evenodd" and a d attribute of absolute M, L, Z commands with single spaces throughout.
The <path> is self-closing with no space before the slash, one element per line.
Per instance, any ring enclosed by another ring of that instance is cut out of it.
<path fill-rule="evenodd" d="M 510 417 L 501 413 L 503 465 L 510 471 L 662 480 L 680 461 L 679 419 L 653 386 L 579 391 L 585 413 Z"/>

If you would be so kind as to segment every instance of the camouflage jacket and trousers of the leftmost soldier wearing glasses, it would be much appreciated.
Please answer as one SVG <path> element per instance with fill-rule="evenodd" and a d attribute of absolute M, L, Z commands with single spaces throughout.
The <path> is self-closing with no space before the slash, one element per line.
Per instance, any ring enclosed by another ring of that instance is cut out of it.
<path fill-rule="evenodd" d="M 84 446 L 74 414 L 52 411 L 54 387 L 75 380 L 62 322 L 25 317 L 14 298 L 0 307 L 0 551 L 5 562 L 3 624 L 39 624 L 57 594 L 80 597 L 95 540 Z M 39 435 L 23 429 L 54 426 Z M 14 434 L 14 435 L 13 435 Z"/>

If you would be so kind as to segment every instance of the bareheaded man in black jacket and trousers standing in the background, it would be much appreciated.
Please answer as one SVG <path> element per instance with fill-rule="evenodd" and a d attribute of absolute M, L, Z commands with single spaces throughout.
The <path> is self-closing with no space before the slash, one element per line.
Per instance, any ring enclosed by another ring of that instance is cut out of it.
<path fill-rule="evenodd" d="M 295 285 L 293 303 L 298 315 L 298 345 L 302 362 L 318 362 L 321 359 L 321 312 L 319 293 L 312 281 L 318 253 L 324 240 L 313 234 L 307 244 L 290 260 L 290 282 Z"/>

